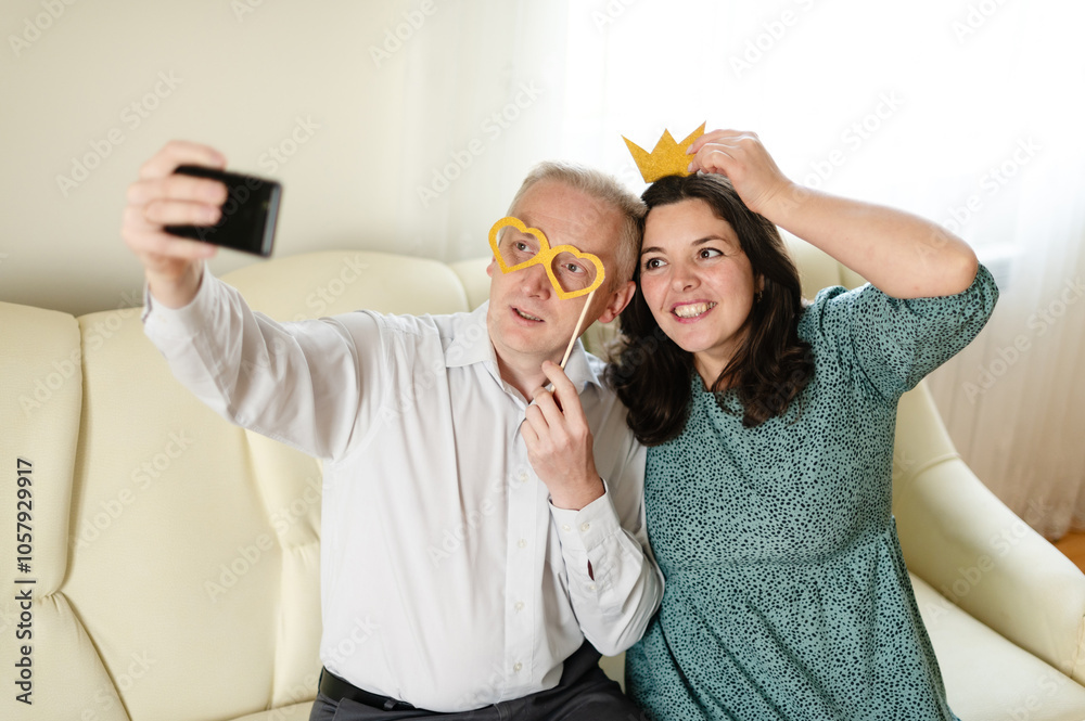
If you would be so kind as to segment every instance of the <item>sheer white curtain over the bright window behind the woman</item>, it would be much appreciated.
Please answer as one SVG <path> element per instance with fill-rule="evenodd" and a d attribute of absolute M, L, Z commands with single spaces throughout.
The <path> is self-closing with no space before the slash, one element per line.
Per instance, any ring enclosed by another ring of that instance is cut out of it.
<path fill-rule="evenodd" d="M 1057 538 L 1085 528 L 1083 21 L 1071 0 L 569 0 L 560 151 L 639 190 L 621 136 L 753 129 L 793 179 L 965 237 L 1001 299 L 931 387 L 970 466 Z"/>

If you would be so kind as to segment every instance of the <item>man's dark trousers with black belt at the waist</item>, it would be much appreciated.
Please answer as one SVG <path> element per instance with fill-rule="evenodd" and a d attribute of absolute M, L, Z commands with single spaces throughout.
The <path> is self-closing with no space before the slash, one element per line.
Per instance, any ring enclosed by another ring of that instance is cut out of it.
<path fill-rule="evenodd" d="M 599 652 L 585 642 L 569 657 L 561 682 L 548 691 L 501 701 L 473 711 L 434 713 L 420 709 L 385 711 L 349 698 L 339 704 L 317 694 L 309 721 L 647 721 L 622 694 L 622 688 L 599 668 Z"/>

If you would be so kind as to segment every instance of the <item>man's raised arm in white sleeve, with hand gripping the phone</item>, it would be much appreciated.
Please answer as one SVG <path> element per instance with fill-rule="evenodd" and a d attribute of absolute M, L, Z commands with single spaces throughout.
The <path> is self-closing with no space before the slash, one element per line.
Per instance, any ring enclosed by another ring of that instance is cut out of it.
<path fill-rule="evenodd" d="M 122 237 L 146 276 L 144 332 L 174 375 L 227 420 L 312 455 L 341 454 L 371 421 L 360 401 L 365 388 L 380 387 L 368 377 L 382 348 L 376 321 L 353 313 L 281 324 L 250 310 L 205 268 L 214 245 L 164 230 L 214 224 L 227 198 L 217 181 L 174 175 L 179 165 L 221 169 L 226 159 L 174 141 L 129 188 Z"/>

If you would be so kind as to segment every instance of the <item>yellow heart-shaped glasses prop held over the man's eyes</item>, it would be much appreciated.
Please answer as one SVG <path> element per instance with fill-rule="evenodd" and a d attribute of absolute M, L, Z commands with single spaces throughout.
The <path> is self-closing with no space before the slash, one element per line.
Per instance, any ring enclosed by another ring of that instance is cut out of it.
<path fill-rule="evenodd" d="M 506 228 L 515 228 L 520 236 L 508 239 L 502 246 L 498 235 Z M 534 244 L 529 237 L 535 239 Z M 551 248 L 546 233 L 538 228 L 528 228 L 520 218 L 509 216 L 494 223 L 489 229 L 489 247 L 502 273 L 541 265 L 558 297 L 563 300 L 591 293 L 607 276 L 598 257 L 580 253 L 572 245 Z"/>

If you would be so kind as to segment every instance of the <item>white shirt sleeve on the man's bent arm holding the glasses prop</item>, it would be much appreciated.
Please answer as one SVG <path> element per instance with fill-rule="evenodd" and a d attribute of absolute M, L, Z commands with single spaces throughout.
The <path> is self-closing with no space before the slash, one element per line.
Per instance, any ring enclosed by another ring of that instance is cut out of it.
<path fill-rule="evenodd" d="M 638 455 L 642 469 L 643 449 Z M 637 473 L 637 465 L 630 465 Z M 603 495 L 579 511 L 550 504 L 569 574 L 570 601 L 584 636 L 605 656 L 639 641 L 663 598 L 663 575 L 651 555 L 644 524 L 642 474 L 641 482 L 634 480 L 625 479 L 630 487 L 626 490 L 638 491 L 640 502 L 624 504 L 627 517 L 618 516 L 605 480 Z"/>

